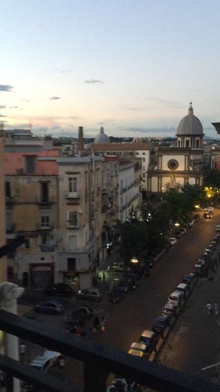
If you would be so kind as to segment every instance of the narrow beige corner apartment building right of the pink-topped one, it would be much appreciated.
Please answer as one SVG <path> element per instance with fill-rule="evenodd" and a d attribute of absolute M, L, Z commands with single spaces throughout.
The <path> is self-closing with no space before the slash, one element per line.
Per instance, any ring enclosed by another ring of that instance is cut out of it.
<path fill-rule="evenodd" d="M 100 156 L 60 157 L 58 281 L 75 288 L 93 283 L 101 247 Z"/>

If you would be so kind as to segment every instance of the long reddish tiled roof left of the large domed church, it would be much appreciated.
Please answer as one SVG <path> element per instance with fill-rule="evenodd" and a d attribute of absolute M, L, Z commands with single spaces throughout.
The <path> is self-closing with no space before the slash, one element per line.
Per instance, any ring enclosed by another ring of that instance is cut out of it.
<path fill-rule="evenodd" d="M 104 143 L 93 144 L 94 151 L 138 151 L 149 150 L 151 143 Z"/>

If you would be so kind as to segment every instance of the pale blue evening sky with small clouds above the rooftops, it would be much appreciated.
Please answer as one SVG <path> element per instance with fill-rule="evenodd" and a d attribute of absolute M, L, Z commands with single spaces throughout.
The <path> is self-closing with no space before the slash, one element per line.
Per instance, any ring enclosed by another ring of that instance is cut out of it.
<path fill-rule="evenodd" d="M 219 0 L 7 0 L 0 120 L 35 134 L 174 136 L 220 121 Z"/>

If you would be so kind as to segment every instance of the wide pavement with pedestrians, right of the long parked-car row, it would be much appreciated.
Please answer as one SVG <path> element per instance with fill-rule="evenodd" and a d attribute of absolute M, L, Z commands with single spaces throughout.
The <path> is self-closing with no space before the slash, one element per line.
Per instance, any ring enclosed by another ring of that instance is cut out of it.
<path fill-rule="evenodd" d="M 214 302 L 220 304 L 219 282 L 218 264 L 211 279 L 199 278 L 158 355 L 160 363 L 216 384 L 220 384 L 220 365 L 202 369 L 220 362 L 220 318 L 214 314 Z M 213 306 L 210 316 L 208 301 Z"/>

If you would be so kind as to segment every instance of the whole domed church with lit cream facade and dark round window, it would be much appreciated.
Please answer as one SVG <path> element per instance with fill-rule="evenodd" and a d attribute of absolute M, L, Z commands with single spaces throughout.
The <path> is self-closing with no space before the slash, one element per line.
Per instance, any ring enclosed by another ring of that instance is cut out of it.
<path fill-rule="evenodd" d="M 177 146 L 150 149 L 148 192 L 166 192 L 185 184 L 203 183 L 204 170 L 213 167 L 214 160 L 203 154 L 203 127 L 189 106 L 177 129 Z"/>

